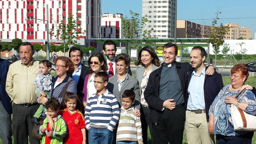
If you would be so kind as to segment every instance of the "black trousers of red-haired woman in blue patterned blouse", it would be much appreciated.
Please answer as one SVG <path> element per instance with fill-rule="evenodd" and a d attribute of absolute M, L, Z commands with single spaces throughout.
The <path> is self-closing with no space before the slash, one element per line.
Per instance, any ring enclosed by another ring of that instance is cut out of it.
<path fill-rule="evenodd" d="M 248 132 L 248 133 L 237 135 L 237 136 L 225 136 L 225 135 L 216 134 L 216 143 L 217 144 L 221 144 L 221 143 L 251 144 L 253 134 L 254 132 Z"/>

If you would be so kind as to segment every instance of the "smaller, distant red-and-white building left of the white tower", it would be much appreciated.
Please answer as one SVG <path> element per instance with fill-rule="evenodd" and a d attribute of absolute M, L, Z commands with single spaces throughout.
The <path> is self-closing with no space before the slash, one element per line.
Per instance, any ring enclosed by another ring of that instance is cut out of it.
<path fill-rule="evenodd" d="M 122 35 L 123 14 L 105 13 L 101 16 L 101 38 L 124 38 Z"/>

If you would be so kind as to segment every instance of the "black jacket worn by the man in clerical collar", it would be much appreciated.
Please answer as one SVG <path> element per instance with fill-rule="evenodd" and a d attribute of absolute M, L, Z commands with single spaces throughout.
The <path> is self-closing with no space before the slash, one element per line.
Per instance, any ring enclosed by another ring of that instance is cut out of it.
<path fill-rule="evenodd" d="M 144 97 L 150 106 L 150 119 L 151 122 L 158 123 L 158 113 L 162 111 L 164 100 L 159 99 L 159 81 L 161 77 L 161 71 L 163 69 L 163 63 L 160 68 L 153 71 L 148 79 L 147 87 L 144 91 Z M 177 74 L 180 78 L 183 97 L 187 98 L 187 83 L 188 83 L 188 71 L 192 70 L 192 67 L 188 62 L 175 62 Z"/>

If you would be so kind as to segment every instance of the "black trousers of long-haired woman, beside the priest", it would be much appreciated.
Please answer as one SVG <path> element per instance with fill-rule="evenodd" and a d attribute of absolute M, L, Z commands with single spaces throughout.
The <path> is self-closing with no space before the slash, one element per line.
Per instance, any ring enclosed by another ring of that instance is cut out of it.
<path fill-rule="evenodd" d="M 143 143 L 147 144 L 148 143 L 148 126 L 149 126 L 149 131 L 151 135 L 151 141 L 153 142 L 152 138 L 152 123 L 150 121 L 150 109 L 148 107 L 143 107 L 141 106 L 140 109 L 140 120 L 141 120 L 141 127 L 142 127 L 142 138 L 143 138 Z"/>

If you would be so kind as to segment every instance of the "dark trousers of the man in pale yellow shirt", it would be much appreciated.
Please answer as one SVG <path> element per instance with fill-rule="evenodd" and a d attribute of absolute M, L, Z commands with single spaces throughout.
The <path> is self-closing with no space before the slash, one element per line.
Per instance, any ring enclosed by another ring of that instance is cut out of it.
<path fill-rule="evenodd" d="M 22 105 L 16 105 L 15 103 L 13 103 L 12 132 L 15 144 L 28 143 L 28 136 L 30 143 L 40 143 L 39 140 L 35 140 L 32 138 L 32 129 L 34 123 L 30 120 L 36 113 L 36 110 L 39 106 L 40 105 L 38 104 L 34 106 L 24 107 Z"/>

